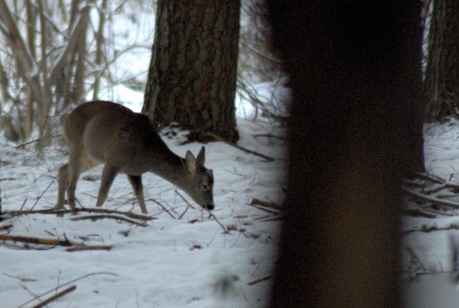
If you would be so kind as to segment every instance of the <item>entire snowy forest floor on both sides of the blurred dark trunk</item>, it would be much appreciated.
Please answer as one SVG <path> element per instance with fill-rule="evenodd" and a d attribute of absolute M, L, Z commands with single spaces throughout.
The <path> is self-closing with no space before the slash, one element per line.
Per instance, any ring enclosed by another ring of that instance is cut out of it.
<path fill-rule="evenodd" d="M 42 151 L 1 139 L 7 215 L 0 222 L 0 307 L 34 307 L 72 286 L 49 307 L 266 307 L 281 212 L 251 203 L 280 205 L 285 197 L 286 130 L 240 118 L 238 130 L 241 147 L 274 161 L 221 142 L 205 144 L 218 221 L 178 190 L 195 207 L 188 208 L 172 184 L 152 173 L 144 175 L 151 220 L 143 219 L 123 175 L 102 212 L 91 212 L 102 166 L 80 178 L 76 196 L 86 211 L 57 217 L 47 211 L 57 201 L 57 170 L 68 159 L 62 138 Z M 185 134 L 161 132 L 176 154 L 197 154 L 202 144 L 180 145 Z M 427 174 L 405 186 L 402 305 L 456 307 L 459 122 L 426 125 L 424 139 Z M 35 212 L 24 215 L 29 210 Z"/>

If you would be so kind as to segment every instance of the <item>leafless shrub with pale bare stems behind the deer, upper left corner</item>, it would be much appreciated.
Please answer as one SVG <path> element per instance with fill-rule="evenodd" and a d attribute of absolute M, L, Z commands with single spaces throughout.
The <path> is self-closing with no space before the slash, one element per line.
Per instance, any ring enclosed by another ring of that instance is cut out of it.
<path fill-rule="evenodd" d="M 112 73 L 117 58 L 151 42 L 116 46 L 115 18 L 134 5 L 153 12 L 146 2 L 0 0 L 0 111 L 16 123 L 4 137 L 25 141 L 36 127 L 40 146 L 47 146 L 61 115 L 90 91 L 98 99 L 102 88 L 119 82 Z"/>

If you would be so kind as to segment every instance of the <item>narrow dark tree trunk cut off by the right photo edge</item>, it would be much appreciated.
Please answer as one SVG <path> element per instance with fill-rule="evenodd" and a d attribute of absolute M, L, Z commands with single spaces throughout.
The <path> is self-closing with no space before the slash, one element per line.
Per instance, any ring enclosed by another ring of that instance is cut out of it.
<path fill-rule="evenodd" d="M 459 1 L 435 0 L 429 30 L 424 95 L 426 120 L 459 118 Z"/>

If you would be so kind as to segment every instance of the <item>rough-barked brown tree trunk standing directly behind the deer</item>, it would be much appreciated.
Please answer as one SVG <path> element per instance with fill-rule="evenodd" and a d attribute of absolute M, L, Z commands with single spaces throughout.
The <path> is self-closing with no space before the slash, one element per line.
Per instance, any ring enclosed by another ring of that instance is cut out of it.
<path fill-rule="evenodd" d="M 234 97 L 240 1 L 158 1 L 144 107 L 158 127 L 238 139 Z"/>

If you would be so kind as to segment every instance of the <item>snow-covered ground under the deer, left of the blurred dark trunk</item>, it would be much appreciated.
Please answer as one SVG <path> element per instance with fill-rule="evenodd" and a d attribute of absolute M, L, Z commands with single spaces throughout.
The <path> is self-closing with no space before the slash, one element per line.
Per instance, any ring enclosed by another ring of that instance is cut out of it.
<path fill-rule="evenodd" d="M 43 298 L 71 285 L 76 285 L 76 290 L 50 307 L 265 307 L 270 280 L 248 283 L 272 275 L 280 221 L 276 213 L 248 203 L 253 198 L 277 204 L 283 200 L 286 149 L 284 139 L 277 137 L 284 137 L 286 130 L 238 118 L 238 131 L 240 146 L 271 156 L 274 161 L 221 142 L 205 144 L 206 166 L 214 169 L 215 177 L 213 213 L 230 232 L 223 232 L 206 212 L 185 212 L 187 204 L 175 193 L 175 187 L 146 173 L 146 205 L 149 215 L 156 218 L 146 227 L 109 218 L 74 221 L 69 214 L 24 215 L 0 222 L 0 235 L 112 246 L 110 251 L 69 252 L 64 246 L 1 241 L 0 307 L 20 307 L 60 285 L 64 287 Z M 196 155 L 202 147 L 198 143 L 180 145 L 185 132 L 166 130 L 162 134 L 180 156 L 188 149 Z M 277 137 L 265 136 L 269 134 Z M 68 159 L 64 144 L 37 152 L 33 143 L 18 149 L 2 139 L 0 157 L 4 211 L 56 205 L 57 171 Z M 102 166 L 98 166 L 81 176 L 76 197 L 83 207 L 95 206 L 101 171 Z M 115 178 L 103 208 L 140 214 L 126 176 Z M 81 215 L 88 213 L 76 217 Z M 71 280 L 76 281 L 65 285 Z"/>

